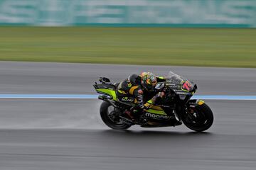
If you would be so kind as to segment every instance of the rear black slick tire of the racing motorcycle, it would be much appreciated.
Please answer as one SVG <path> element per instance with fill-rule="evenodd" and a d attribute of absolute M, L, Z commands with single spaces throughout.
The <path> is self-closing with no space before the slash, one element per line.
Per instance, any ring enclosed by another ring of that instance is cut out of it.
<path fill-rule="evenodd" d="M 118 118 L 118 113 L 114 112 L 114 107 L 107 101 L 103 101 L 100 106 L 100 117 L 103 122 L 110 128 L 115 130 L 126 130 L 131 127 Z"/>

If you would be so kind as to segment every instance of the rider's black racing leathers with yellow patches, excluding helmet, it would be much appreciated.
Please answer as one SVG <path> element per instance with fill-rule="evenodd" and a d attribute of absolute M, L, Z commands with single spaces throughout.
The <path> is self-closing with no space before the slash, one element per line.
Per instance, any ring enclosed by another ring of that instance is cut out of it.
<path fill-rule="evenodd" d="M 157 77 L 157 81 L 165 81 L 163 77 Z M 120 82 L 117 86 L 117 97 L 119 101 L 133 102 L 132 98 L 135 98 L 134 103 L 137 103 L 137 109 L 143 110 L 144 101 L 149 101 L 154 97 L 154 93 L 144 91 L 141 84 L 141 77 L 137 74 L 132 74 Z"/>

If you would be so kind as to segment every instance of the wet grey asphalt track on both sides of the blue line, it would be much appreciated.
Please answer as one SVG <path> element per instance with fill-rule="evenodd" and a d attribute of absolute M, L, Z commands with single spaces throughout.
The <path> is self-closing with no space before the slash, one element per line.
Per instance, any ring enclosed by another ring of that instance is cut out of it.
<path fill-rule="evenodd" d="M 95 94 L 97 77 L 172 69 L 199 95 L 256 95 L 256 69 L 0 62 L 0 94 Z M 97 99 L 0 98 L 0 169 L 255 169 L 256 101 L 206 101 L 207 132 L 110 130 Z"/>

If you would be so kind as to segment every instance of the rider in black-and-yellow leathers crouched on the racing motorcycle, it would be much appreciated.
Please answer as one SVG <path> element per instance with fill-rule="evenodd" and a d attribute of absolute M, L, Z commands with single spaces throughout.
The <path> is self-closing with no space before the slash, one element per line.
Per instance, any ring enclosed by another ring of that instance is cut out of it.
<path fill-rule="evenodd" d="M 151 72 L 142 72 L 142 74 L 132 74 L 117 86 L 117 98 L 123 102 L 134 102 L 135 106 L 131 111 L 127 111 L 127 115 L 135 120 L 139 117 L 139 113 L 144 112 L 144 101 L 156 101 L 158 97 L 164 97 L 164 92 L 156 94 L 155 86 L 157 82 L 164 82 L 164 77 L 156 77 Z M 135 100 L 134 100 L 135 98 Z"/>

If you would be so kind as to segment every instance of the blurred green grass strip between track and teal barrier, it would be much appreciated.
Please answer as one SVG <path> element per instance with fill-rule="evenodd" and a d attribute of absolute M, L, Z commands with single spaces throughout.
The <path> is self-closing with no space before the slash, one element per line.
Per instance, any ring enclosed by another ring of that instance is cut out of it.
<path fill-rule="evenodd" d="M 256 67 L 256 29 L 0 27 L 0 60 Z"/>

